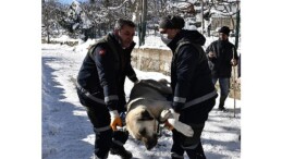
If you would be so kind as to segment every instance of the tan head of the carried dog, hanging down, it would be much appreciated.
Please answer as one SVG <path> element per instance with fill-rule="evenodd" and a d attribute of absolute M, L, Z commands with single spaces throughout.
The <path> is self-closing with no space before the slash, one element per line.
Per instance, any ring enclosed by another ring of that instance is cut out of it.
<path fill-rule="evenodd" d="M 126 129 L 150 150 L 157 145 L 157 120 L 145 107 L 137 107 L 126 114 Z"/>

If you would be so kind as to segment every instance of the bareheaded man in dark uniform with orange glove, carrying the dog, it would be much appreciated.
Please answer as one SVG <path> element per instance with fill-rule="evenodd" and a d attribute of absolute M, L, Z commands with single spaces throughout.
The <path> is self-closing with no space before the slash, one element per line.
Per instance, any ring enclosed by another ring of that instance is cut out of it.
<path fill-rule="evenodd" d="M 126 110 L 125 76 L 133 83 L 138 82 L 131 65 L 134 33 L 132 21 L 118 20 L 113 33 L 89 48 L 77 76 L 79 101 L 86 107 L 96 133 L 97 159 L 107 158 L 109 151 L 123 159 L 132 158 L 123 147 L 128 133 L 118 131 L 117 126 L 122 126 L 120 114 Z"/>

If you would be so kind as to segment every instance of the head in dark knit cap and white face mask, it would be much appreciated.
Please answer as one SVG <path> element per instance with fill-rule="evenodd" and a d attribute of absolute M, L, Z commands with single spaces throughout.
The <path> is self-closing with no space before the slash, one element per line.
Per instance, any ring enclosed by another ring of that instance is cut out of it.
<path fill-rule="evenodd" d="M 181 16 L 168 15 L 160 20 L 159 32 L 162 41 L 168 44 L 169 39 L 173 39 L 175 35 L 184 27 L 185 22 Z"/>

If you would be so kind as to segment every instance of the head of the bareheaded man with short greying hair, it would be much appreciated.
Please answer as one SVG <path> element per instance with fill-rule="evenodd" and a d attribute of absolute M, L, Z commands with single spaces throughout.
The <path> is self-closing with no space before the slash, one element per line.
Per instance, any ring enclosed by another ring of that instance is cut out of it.
<path fill-rule="evenodd" d="M 127 48 L 133 42 L 135 24 L 130 20 L 119 19 L 114 25 L 114 34 L 120 38 L 123 48 Z"/>

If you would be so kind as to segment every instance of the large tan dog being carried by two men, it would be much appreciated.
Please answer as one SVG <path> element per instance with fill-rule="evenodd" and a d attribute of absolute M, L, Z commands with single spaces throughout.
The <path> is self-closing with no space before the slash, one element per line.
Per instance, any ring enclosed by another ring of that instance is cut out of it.
<path fill-rule="evenodd" d="M 172 94 L 165 80 L 142 80 L 135 84 L 130 95 L 126 113 L 126 130 L 149 150 L 157 145 L 158 122 L 169 122 L 176 131 L 193 136 L 191 126 L 175 120 L 171 102 L 167 97 Z"/>

